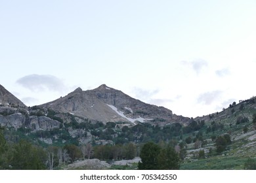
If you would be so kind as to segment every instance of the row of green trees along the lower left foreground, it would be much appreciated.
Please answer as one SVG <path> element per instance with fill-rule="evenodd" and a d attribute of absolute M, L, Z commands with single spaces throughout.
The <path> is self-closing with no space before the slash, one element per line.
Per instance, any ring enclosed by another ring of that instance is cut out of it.
<path fill-rule="evenodd" d="M 7 142 L 4 129 L 0 129 L 0 169 L 58 169 L 76 160 L 97 158 L 100 160 L 133 159 L 137 146 L 132 142 L 117 145 L 66 144 L 64 146 L 37 146 L 20 139 Z"/>

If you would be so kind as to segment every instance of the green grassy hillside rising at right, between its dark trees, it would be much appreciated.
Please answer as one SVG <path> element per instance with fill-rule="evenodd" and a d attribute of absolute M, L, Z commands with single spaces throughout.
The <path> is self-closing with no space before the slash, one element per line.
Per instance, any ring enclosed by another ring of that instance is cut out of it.
<path fill-rule="evenodd" d="M 203 129 L 203 139 L 210 139 L 212 135 L 218 136 L 224 133 L 229 133 L 232 139 L 232 144 L 228 146 L 227 150 L 222 154 L 215 154 L 213 156 L 208 156 L 205 153 L 205 159 L 194 158 L 196 150 L 193 150 L 193 146 L 190 145 L 190 150 L 188 150 L 188 156 L 190 158 L 186 159 L 181 164 L 181 169 L 244 169 L 244 163 L 248 158 L 256 157 L 256 131 L 252 125 L 253 114 L 256 113 L 256 105 L 245 105 L 243 110 L 240 110 L 240 105 L 238 104 L 234 107 L 235 112 L 231 112 L 231 108 L 227 108 L 211 119 L 204 117 L 205 124 L 209 126 L 211 122 L 224 124 L 224 128 L 206 133 Z M 236 124 L 238 116 L 245 116 L 249 119 L 249 122 L 245 124 Z M 200 118 L 199 118 L 200 119 Z M 230 127 L 231 124 L 231 127 Z M 244 133 L 244 126 L 247 125 L 248 131 Z M 207 144 L 202 149 L 207 152 L 209 148 L 215 148 L 213 143 Z"/>

